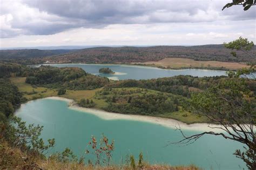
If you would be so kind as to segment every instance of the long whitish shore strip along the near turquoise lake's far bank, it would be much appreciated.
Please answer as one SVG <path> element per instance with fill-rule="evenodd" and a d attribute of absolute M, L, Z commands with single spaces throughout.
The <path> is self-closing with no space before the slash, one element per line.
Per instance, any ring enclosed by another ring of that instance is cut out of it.
<path fill-rule="evenodd" d="M 181 121 L 168 119 L 168 118 L 159 118 L 159 117 L 151 117 L 149 115 L 136 115 L 136 114 L 121 114 L 121 113 L 111 113 L 103 110 L 97 110 L 94 108 L 85 108 L 79 107 L 74 100 L 67 99 L 63 97 L 46 97 L 44 99 L 54 99 L 54 100 L 63 100 L 68 102 L 69 108 L 72 110 L 86 112 L 89 114 L 96 115 L 97 117 L 104 120 L 133 120 L 133 121 L 144 121 L 148 123 L 153 123 L 169 128 L 176 129 L 176 127 L 180 127 L 181 130 L 191 130 L 191 131 L 221 131 L 218 128 L 210 128 L 211 127 L 221 127 L 220 125 L 211 125 L 207 123 L 196 123 L 196 124 L 185 124 Z"/>

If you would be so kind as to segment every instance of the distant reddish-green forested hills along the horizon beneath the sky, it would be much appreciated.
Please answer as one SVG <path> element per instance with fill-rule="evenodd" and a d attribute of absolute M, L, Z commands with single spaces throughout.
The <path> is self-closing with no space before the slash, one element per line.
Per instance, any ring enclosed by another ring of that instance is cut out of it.
<path fill-rule="evenodd" d="M 252 49 L 256 51 L 255 47 Z M 159 61 L 164 58 L 188 58 L 200 61 L 255 62 L 253 56 L 234 57 L 224 45 L 93 47 L 82 50 L 0 50 L 0 60 L 24 65 L 53 63 L 132 63 Z"/>

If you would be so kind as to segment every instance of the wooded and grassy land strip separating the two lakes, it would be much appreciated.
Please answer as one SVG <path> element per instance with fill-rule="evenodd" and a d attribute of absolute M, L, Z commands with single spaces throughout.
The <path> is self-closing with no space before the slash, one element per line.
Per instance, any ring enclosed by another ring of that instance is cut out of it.
<path fill-rule="evenodd" d="M 15 97 L 1 95 L 0 111 L 6 113 L 6 116 L 25 101 L 61 96 L 74 99 L 82 107 L 109 112 L 172 118 L 184 123 L 208 122 L 207 118 L 191 112 L 187 108 L 187 101 L 192 94 L 230 79 L 225 76 L 175 76 L 113 81 L 86 73 L 77 67 L 28 67 L 14 63 L 1 63 L 0 66 L 2 88 L 8 88 L 2 90 L 2 93 L 8 94 L 11 91 L 15 94 Z M 248 81 L 248 87 L 253 93 L 255 86 L 255 81 Z M 64 92 L 59 93 L 60 90 Z M 19 96 L 20 99 L 16 99 Z"/>

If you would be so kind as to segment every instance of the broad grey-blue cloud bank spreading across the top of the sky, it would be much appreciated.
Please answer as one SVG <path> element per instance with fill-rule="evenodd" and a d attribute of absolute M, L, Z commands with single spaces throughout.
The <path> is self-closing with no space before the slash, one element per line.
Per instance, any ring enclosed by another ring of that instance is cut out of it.
<path fill-rule="evenodd" d="M 198 23 L 255 19 L 256 16 L 255 10 L 244 12 L 240 6 L 221 11 L 226 2 L 210 0 L 21 0 L 21 3 L 47 14 L 28 21 L 14 17 L 11 27 L 23 30 L 25 35 L 50 35 L 72 28 L 103 28 L 110 24 Z M 7 30 L 1 37 L 14 35 Z"/>

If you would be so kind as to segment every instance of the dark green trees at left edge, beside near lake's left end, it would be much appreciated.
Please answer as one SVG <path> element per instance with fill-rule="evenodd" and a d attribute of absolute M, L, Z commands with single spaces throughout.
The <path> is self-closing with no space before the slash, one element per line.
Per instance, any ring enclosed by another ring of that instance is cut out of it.
<path fill-rule="evenodd" d="M 0 115 L 9 117 L 24 99 L 17 86 L 8 79 L 0 78 Z"/>

